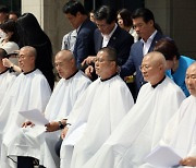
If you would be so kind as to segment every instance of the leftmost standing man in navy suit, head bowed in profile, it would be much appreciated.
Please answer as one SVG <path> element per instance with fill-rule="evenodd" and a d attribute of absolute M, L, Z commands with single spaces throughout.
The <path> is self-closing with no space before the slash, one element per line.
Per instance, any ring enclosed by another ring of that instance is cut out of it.
<path fill-rule="evenodd" d="M 87 56 L 95 55 L 94 31 L 96 25 L 88 19 L 87 12 L 78 1 L 71 0 L 65 3 L 63 13 L 77 33 L 73 52 L 77 68 L 81 68 L 81 63 Z"/>

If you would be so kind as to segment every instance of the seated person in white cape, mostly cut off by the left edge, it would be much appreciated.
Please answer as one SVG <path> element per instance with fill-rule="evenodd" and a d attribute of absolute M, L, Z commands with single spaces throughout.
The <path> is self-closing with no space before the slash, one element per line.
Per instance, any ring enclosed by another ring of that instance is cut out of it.
<path fill-rule="evenodd" d="M 15 74 L 9 71 L 9 68 L 3 65 L 2 59 L 7 58 L 7 51 L 0 48 L 0 105 L 4 94 L 15 80 Z"/>

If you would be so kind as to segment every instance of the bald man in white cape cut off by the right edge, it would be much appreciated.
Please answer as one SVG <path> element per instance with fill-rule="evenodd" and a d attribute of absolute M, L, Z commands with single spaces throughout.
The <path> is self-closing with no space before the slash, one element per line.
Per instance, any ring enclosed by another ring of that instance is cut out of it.
<path fill-rule="evenodd" d="M 171 147 L 183 159 L 182 166 L 196 166 L 196 62 L 186 71 L 185 83 L 191 94 L 167 124 L 161 145 Z M 177 163 L 175 163 L 177 165 Z M 174 165 L 171 165 L 171 167 Z M 148 165 L 158 168 L 159 166 Z"/>

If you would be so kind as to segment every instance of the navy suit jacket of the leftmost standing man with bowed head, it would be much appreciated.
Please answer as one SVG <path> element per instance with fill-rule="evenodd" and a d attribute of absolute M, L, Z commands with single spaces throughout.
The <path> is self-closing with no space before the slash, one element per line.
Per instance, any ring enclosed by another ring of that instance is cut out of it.
<path fill-rule="evenodd" d="M 81 68 L 81 63 L 85 58 L 88 56 L 95 56 L 94 32 L 97 26 L 87 19 L 77 32 L 73 52 L 78 68 Z"/>

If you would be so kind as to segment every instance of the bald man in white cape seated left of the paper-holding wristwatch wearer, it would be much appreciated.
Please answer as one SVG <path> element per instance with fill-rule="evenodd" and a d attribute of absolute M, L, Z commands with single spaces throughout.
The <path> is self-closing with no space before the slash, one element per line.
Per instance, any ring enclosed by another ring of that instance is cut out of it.
<path fill-rule="evenodd" d="M 11 137 L 20 130 L 25 121 L 19 111 L 38 109 L 44 111 L 50 98 L 51 89 L 46 77 L 36 69 L 36 49 L 30 46 L 21 48 L 19 53 L 19 65 L 23 70 L 5 94 L 0 106 L 0 143 L 11 141 Z M 1 159 L 7 159 L 1 151 Z M 0 167 L 7 167 L 0 160 Z"/>

